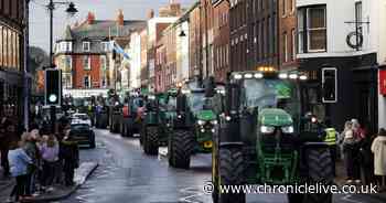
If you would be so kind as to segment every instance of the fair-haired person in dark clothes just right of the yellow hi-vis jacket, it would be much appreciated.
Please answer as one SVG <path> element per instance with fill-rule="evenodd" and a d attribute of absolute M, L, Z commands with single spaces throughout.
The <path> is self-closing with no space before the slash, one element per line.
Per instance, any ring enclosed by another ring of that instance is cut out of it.
<path fill-rule="evenodd" d="M 360 165 L 356 162 L 356 156 L 358 152 L 358 139 L 354 135 L 352 121 L 347 121 L 345 124 L 345 129 L 342 133 L 344 135 L 343 153 L 347 174 L 347 183 L 350 184 L 353 181 L 361 182 Z"/>

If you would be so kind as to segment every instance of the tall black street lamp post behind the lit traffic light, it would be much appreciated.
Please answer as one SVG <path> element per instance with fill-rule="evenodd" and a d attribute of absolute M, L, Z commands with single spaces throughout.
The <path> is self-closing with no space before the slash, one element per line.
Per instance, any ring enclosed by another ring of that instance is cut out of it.
<path fill-rule="evenodd" d="M 66 12 L 69 15 L 74 15 L 77 13 L 77 9 L 75 8 L 75 4 L 73 2 L 54 2 L 53 0 L 50 0 L 50 3 L 46 6 L 50 10 L 50 67 L 55 68 L 54 64 L 54 46 L 53 46 L 53 25 L 54 25 L 54 10 L 55 4 L 67 4 L 68 8 L 66 9 Z M 56 107 L 54 105 L 50 108 L 50 115 L 51 115 L 51 131 L 55 132 L 55 122 L 56 122 Z"/>

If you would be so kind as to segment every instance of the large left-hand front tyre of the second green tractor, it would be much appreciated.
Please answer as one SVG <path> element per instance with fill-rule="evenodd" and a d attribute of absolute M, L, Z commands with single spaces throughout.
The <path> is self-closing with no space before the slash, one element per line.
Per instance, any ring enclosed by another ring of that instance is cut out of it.
<path fill-rule="evenodd" d="M 175 130 L 169 138 L 171 149 L 169 150 L 169 163 L 179 169 L 189 169 L 191 154 L 194 149 L 194 138 L 190 131 Z"/>

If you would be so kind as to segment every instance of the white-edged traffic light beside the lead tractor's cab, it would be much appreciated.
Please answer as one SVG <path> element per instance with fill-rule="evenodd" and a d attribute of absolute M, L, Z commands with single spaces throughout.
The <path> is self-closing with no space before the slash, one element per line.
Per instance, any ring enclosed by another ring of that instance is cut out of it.
<path fill-rule="evenodd" d="M 337 74 L 335 67 L 322 70 L 323 103 L 337 101 Z"/>

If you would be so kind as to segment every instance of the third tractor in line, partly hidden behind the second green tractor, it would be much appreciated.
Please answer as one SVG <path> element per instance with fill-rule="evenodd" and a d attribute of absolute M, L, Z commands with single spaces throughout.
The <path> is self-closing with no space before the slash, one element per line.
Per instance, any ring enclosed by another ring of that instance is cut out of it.
<path fill-rule="evenodd" d="M 169 115 L 167 101 L 172 96 L 173 92 L 147 96 L 144 101 L 146 113 L 140 136 L 140 143 L 146 154 L 158 154 L 158 148 L 160 146 L 167 146 L 165 119 Z"/>

